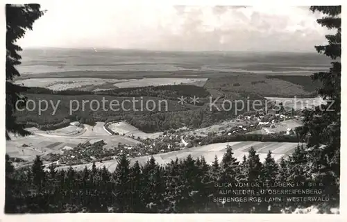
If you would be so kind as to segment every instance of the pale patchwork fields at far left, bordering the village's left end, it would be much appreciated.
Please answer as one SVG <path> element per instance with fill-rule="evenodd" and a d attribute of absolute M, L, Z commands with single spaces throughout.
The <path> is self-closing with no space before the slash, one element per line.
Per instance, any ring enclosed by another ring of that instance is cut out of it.
<path fill-rule="evenodd" d="M 103 122 L 97 122 L 95 126 L 84 125 L 84 128 L 67 126 L 50 131 L 41 131 L 37 128 L 28 128 L 28 130 L 33 135 L 27 137 L 11 135 L 12 140 L 6 141 L 6 153 L 10 157 L 19 157 L 31 162 L 36 155 L 44 157 L 49 153 L 60 153 L 64 148 L 74 148 L 86 142 L 93 143 L 96 139 L 102 139 L 106 143 L 104 148 L 112 148 L 119 143 L 129 146 L 139 143 L 135 139 L 108 134 L 103 129 Z"/>

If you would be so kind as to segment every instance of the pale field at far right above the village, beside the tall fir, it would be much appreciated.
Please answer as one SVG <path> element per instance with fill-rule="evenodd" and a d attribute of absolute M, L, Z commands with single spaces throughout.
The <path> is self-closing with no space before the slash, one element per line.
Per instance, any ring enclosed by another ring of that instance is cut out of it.
<path fill-rule="evenodd" d="M 315 98 L 283 98 L 283 97 L 265 97 L 269 101 L 283 103 L 285 107 L 294 108 L 294 110 L 303 110 L 304 108 L 312 108 L 317 105 L 326 104 L 321 97 Z"/>

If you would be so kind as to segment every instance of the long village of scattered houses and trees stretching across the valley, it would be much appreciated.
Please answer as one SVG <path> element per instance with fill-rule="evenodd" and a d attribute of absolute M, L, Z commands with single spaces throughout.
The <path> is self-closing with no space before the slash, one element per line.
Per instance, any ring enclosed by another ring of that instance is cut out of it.
<path fill-rule="evenodd" d="M 167 130 L 155 135 L 137 136 L 137 132 L 123 133 L 121 136 L 135 139 L 137 144 L 118 143 L 115 146 L 108 146 L 103 139 L 91 139 L 75 147 L 65 146 L 59 153 L 50 153 L 44 156 L 46 164 L 56 164 L 56 166 L 67 166 L 77 164 L 87 164 L 90 162 L 104 162 L 116 160 L 119 155 L 125 154 L 127 157 L 141 157 L 167 153 L 172 151 L 182 151 L 187 148 L 204 146 L 210 144 L 208 139 L 214 137 L 230 137 L 232 135 L 291 135 L 294 136 L 295 128 L 301 126 L 301 120 L 297 114 L 276 112 L 252 112 L 238 115 L 235 119 L 221 121 L 221 123 L 208 128 L 189 129 L 183 127 L 177 130 Z M 72 123 L 71 123 L 72 124 Z M 114 124 L 112 122 L 111 124 Z M 105 123 L 105 130 L 112 135 L 119 135 L 110 129 L 110 123 Z M 83 127 L 82 123 L 78 126 Z M 120 131 L 121 132 L 121 131 Z"/>

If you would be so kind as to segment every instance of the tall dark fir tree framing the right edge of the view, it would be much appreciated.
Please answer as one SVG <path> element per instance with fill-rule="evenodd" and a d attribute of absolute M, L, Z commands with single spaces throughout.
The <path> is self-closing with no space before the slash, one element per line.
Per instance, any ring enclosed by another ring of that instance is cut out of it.
<path fill-rule="evenodd" d="M 320 81 L 318 93 L 327 100 L 321 108 L 307 110 L 304 119 L 304 133 L 308 133 L 307 146 L 315 153 L 311 157 L 316 163 L 316 172 L 332 174 L 339 182 L 340 173 L 340 135 L 341 135 L 341 6 L 312 6 L 312 12 L 321 12 L 323 17 L 317 22 L 328 29 L 335 30 L 333 35 L 325 35 L 328 44 L 315 46 L 316 51 L 332 59 L 329 71 L 312 76 Z M 319 152 L 317 152 L 319 150 Z"/>

